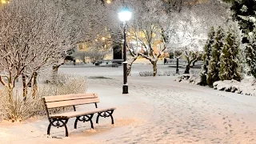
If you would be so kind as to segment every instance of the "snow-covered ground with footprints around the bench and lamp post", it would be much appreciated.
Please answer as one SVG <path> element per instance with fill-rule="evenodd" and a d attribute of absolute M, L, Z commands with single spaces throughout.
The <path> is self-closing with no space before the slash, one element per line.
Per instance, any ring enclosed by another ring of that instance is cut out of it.
<path fill-rule="evenodd" d="M 122 66 L 62 67 L 62 73 L 88 77 L 88 92 L 98 93 L 100 107 L 117 107 L 114 126 L 100 118 L 94 130 L 82 122 L 74 130 L 73 118 L 68 122 L 70 137 L 65 138 L 63 128 L 52 128 L 48 138 L 46 118 L 2 122 L 0 143 L 256 143 L 256 97 L 174 82 L 174 77 L 138 76 L 150 70 L 150 65 L 134 66 L 129 94 L 122 94 Z"/>

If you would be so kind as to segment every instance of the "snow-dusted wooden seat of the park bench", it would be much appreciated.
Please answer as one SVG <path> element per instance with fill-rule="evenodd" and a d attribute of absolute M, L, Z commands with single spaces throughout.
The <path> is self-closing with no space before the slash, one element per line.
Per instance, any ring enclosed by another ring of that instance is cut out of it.
<path fill-rule="evenodd" d="M 96 110 L 79 110 L 79 111 L 70 111 L 62 114 L 52 114 L 50 115 L 50 118 L 74 118 L 89 114 L 95 114 L 95 113 L 101 113 L 105 111 L 115 110 L 115 107 L 106 108 L 106 109 L 96 109 Z"/>

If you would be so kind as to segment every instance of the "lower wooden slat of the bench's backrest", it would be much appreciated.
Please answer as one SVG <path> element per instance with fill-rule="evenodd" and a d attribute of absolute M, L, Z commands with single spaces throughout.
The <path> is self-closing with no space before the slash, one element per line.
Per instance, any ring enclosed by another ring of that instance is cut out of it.
<path fill-rule="evenodd" d="M 62 107 L 62 106 L 75 106 L 75 105 L 82 105 L 82 104 L 89 104 L 89 103 L 98 103 L 98 98 L 87 98 L 87 99 L 75 99 L 69 101 L 61 101 L 61 102 L 47 102 L 47 108 L 54 108 L 54 107 Z"/>

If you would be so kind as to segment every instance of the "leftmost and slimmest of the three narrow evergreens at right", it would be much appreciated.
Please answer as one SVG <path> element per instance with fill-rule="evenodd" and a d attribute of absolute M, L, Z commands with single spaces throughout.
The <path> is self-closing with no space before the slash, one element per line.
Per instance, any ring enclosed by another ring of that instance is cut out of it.
<path fill-rule="evenodd" d="M 204 46 L 204 48 L 203 48 L 203 55 L 202 55 L 203 65 L 202 65 L 202 72 L 200 75 L 201 76 L 201 82 L 200 82 L 201 86 L 207 85 L 208 66 L 210 63 L 211 51 L 213 49 L 214 37 L 215 37 L 214 27 L 211 27 L 210 32 L 208 34 L 208 40 L 206 42 L 206 46 Z"/>

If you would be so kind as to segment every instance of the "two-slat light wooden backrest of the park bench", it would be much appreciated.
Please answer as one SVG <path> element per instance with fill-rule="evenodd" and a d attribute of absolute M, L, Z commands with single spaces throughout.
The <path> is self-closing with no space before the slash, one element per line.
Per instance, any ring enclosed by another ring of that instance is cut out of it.
<path fill-rule="evenodd" d="M 98 103 L 98 94 L 64 94 L 42 97 L 48 109 L 63 106 L 76 106 L 89 103 Z"/>

